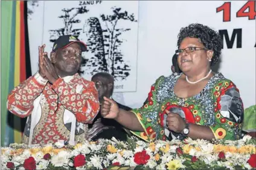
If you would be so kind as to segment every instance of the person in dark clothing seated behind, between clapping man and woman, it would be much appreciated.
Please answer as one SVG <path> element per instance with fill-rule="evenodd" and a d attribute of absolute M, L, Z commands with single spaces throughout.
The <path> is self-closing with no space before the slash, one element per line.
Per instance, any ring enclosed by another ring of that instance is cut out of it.
<path fill-rule="evenodd" d="M 104 96 L 112 96 L 114 90 L 114 77 L 112 77 L 109 73 L 96 73 L 94 76 L 92 76 L 91 80 L 95 82 L 100 103 L 104 102 Z M 117 105 L 126 111 L 130 111 L 132 109 L 121 105 L 120 103 L 117 103 Z M 131 135 L 129 130 L 124 129 L 124 127 L 121 126 L 121 124 L 119 124 L 117 121 L 101 117 L 100 112 L 98 113 L 97 118 L 95 118 L 94 123 L 89 125 L 88 134 L 88 139 L 92 141 L 100 138 L 111 139 L 112 137 L 115 137 L 120 141 L 126 141 L 127 135 Z"/>

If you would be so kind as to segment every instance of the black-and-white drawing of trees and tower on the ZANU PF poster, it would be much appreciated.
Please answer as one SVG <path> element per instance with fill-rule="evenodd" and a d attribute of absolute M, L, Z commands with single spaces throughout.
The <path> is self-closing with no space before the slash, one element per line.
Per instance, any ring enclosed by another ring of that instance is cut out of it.
<path fill-rule="evenodd" d="M 63 20 L 63 27 L 51 29 L 50 41 L 54 42 L 60 35 L 72 34 L 78 38 L 86 39 L 88 52 L 83 56 L 82 74 L 95 74 L 99 71 L 107 71 L 115 80 L 123 80 L 129 76 L 130 65 L 123 59 L 120 49 L 123 43 L 121 34 L 130 31 L 130 28 L 118 27 L 118 21 L 137 22 L 134 14 L 129 14 L 126 10 L 118 7 L 111 8 L 111 14 L 101 14 L 100 16 L 89 17 L 85 20 L 83 28 L 76 28 L 76 23 L 83 22 L 77 19 L 78 14 L 88 13 L 86 5 L 77 8 L 63 8 L 59 18 Z M 104 28 L 101 26 L 104 25 Z M 89 56 L 89 58 L 86 58 Z"/>

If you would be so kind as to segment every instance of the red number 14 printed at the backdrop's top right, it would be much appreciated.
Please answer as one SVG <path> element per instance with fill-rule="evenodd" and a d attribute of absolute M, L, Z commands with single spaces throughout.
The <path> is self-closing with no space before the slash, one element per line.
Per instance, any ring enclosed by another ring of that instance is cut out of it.
<path fill-rule="evenodd" d="M 248 9 L 248 12 L 246 10 Z M 216 13 L 223 11 L 223 22 L 231 21 L 231 2 L 225 2 L 216 9 Z M 255 1 L 248 1 L 237 11 L 237 17 L 248 17 L 249 20 L 255 19 Z"/>

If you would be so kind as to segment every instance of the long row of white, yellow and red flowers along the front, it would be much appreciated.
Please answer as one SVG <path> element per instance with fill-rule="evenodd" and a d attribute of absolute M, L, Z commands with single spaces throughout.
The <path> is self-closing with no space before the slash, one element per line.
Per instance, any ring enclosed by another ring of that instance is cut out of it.
<path fill-rule="evenodd" d="M 256 140 L 127 142 L 100 139 L 75 146 L 11 144 L 1 169 L 255 169 Z"/>

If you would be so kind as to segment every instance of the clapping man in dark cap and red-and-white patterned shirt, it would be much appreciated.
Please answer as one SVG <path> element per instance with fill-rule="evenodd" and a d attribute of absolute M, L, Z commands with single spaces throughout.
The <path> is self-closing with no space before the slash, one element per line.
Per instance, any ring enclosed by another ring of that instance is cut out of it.
<path fill-rule="evenodd" d="M 88 138 L 100 105 L 94 82 L 77 73 L 86 45 L 72 35 L 60 36 L 54 43 L 51 60 L 39 47 L 39 71 L 8 95 L 8 110 L 28 117 L 22 142 L 74 145 Z"/>

